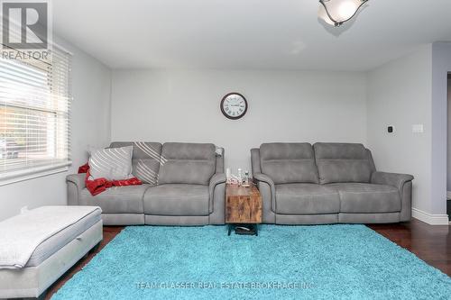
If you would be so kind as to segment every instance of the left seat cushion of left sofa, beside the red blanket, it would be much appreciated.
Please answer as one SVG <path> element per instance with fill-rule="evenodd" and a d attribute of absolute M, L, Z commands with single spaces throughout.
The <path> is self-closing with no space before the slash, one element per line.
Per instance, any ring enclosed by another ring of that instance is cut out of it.
<path fill-rule="evenodd" d="M 143 214 L 143 195 L 150 185 L 113 186 L 99 195 L 91 195 L 84 188 L 79 195 L 80 205 L 97 205 L 103 214 Z"/>

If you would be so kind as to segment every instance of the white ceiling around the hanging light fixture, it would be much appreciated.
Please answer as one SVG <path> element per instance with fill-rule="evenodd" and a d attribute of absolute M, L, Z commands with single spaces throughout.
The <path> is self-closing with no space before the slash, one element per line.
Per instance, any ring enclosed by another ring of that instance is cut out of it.
<path fill-rule="evenodd" d="M 450 0 L 370 0 L 338 30 L 316 0 L 56 0 L 53 30 L 111 68 L 367 70 L 451 41 Z"/>

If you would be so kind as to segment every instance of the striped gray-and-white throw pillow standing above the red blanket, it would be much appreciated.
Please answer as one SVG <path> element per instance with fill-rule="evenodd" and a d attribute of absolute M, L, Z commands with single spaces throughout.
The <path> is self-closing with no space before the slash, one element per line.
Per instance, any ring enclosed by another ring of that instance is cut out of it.
<path fill-rule="evenodd" d="M 123 180 L 132 178 L 133 146 L 90 150 L 90 179 Z"/>

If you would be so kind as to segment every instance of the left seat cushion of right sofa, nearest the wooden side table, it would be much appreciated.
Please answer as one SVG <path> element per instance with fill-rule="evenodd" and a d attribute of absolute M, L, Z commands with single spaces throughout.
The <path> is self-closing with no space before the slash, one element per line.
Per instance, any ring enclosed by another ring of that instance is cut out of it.
<path fill-rule="evenodd" d="M 277 214 L 337 214 L 340 199 L 334 188 L 318 184 L 276 186 Z"/>

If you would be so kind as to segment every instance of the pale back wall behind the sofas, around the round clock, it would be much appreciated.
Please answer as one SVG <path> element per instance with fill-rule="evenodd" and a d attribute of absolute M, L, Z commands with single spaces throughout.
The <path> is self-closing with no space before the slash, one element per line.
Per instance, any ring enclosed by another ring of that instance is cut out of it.
<path fill-rule="evenodd" d="M 249 169 L 265 141 L 366 141 L 364 73 L 115 70 L 113 141 L 213 142 L 226 166 Z M 249 110 L 231 121 L 219 109 L 229 92 Z"/>

